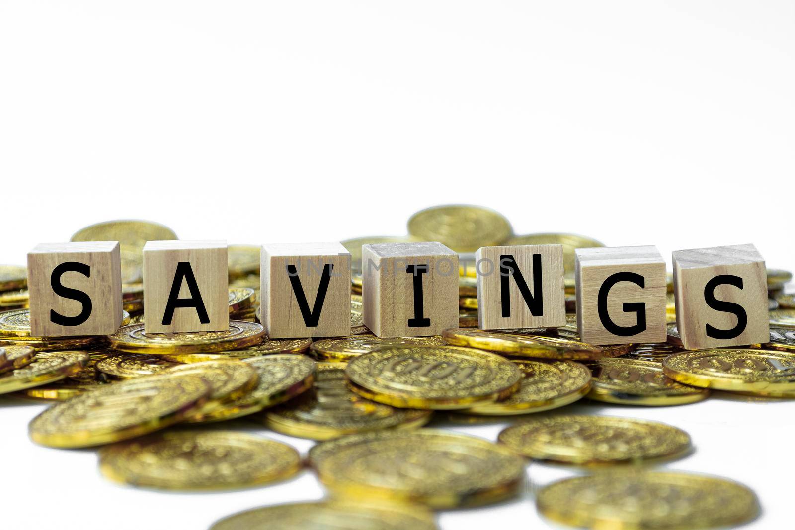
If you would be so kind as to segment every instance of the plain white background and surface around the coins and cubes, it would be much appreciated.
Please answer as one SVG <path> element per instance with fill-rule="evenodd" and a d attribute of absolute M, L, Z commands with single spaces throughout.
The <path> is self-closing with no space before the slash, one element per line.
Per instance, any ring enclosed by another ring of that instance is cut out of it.
<path fill-rule="evenodd" d="M 792 269 L 793 94 L 793 2 L 0 0 L 0 261 L 106 219 L 335 241 L 463 202 L 519 234 L 665 255 L 754 242 Z M 322 495 L 308 473 L 235 493 L 113 486 L 94 451 L 29 442 L 41 405 L 0 405 L 6 528 L 204 528 Z M 765 516 L 749 528 L 791 525 L 795 405 L 581 407 L 684 428 L 696 453 L 673 468 L 752 486 Z M 440 524 L 537 519 L 527 494 Z"/>

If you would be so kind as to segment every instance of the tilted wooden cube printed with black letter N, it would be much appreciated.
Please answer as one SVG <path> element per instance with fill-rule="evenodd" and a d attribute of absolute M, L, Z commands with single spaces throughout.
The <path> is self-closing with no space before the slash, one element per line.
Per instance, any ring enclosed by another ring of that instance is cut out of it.
<path fill-rule="evenodd" d="M 563 246 L 484 246 L 475 253 L 483 330 L 566 325 Z"/>

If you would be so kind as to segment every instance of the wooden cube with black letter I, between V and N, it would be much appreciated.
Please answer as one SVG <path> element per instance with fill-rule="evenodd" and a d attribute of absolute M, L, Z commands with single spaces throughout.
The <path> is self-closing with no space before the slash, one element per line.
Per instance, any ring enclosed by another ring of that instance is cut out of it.
<path fill-rule="evenodd" d="M 458 254 L 438 242 L 362 246 L 364 325 L 378 337 L 458 327 Z"/>

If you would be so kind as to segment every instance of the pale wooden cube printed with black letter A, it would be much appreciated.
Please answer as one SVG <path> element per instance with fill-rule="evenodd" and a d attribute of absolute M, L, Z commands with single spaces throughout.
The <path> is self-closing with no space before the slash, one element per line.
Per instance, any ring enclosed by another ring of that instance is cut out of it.
<path fill-rule="evenodd" d="M 227 242 L 150 241 L 143 252 L 146 333 L 229 329 Z"/>

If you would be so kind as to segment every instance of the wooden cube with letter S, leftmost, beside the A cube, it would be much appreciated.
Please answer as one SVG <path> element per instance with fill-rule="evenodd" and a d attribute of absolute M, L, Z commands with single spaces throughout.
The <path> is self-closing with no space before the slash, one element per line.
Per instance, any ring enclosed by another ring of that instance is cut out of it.
<path fill-rule="evenodd" d="M 112 335 L 122 323 L 118 242 L 42 243 L 28 254 L 34 337 Z"/>

